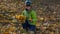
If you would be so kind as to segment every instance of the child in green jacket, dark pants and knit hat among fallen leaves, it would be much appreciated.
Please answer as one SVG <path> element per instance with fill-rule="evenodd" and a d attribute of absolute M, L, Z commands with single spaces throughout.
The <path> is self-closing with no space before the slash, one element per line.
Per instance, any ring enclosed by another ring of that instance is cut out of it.
<path fill-rule="evenodd" d="M 31 9 L 31 2 L 26 1 L 26 8 L 22 12 L 22 15 L 26 16 L 26 21 L 22 24 L 23 28 L 29 30 L 30 32 L 34 32 L 36 29 L 36 12 Z"/>

